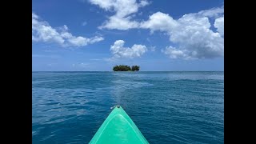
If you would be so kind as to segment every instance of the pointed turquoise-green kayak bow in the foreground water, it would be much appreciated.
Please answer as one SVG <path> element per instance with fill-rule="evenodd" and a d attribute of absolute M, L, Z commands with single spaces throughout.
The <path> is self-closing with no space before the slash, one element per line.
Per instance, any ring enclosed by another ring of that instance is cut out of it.
<path fill-rule="evenodd" d="M 94 143 L 137 144 L 149 142 L 146 141 L 146 138 L 144 138 L 125 110 L 121 106 L 115 106 L 114 110 L 90 140 L 90 144 Z"/>

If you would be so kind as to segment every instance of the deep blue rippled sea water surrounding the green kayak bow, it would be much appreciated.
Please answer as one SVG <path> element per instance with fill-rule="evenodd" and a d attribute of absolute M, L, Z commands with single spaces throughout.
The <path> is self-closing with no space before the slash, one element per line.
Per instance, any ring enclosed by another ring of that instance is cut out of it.
<path fill-rule="evenodd" d="M 150 143 L 224 143 L 223 72 L 32 72 L 32 142 L 88 143 L 117 104 Z"/>

